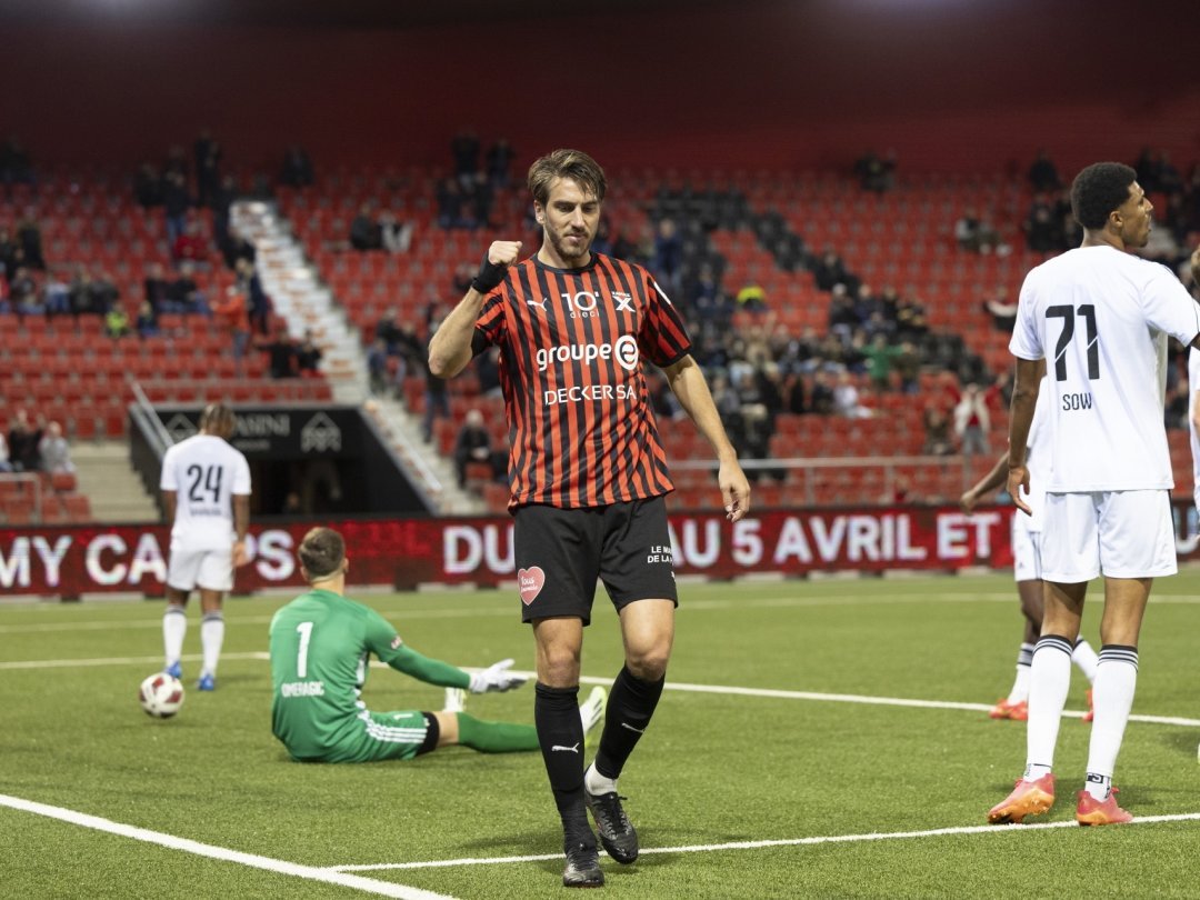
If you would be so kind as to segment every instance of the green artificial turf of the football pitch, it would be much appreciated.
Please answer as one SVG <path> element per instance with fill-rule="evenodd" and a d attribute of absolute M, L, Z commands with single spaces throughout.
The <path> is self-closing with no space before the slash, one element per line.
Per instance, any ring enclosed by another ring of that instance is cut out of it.
<path fill-rule="evenodd" d="M 1098 587 L 1085 616 L 1097 647 Z M 1198 588 L 1196 572 L 1156 586 L 1136 715 L 1200 719 Z M 1087 756 L 1088 726 L 1078 718 L 1062 724 L 1058 802 L 1042 817 L 1068 827 L 724 846 L 984 824 L 1024 766 L 1024 724 L 974 709 L 752 691 L 990 706 L 1012 683 L 1021 622 L 1003 575 L 686 584 L 682 596 L 668 690 L 620 781 L 644 852 L 628 868 L 602 859 L 607 895 L 1200 893 L 1200 821 L 1069 824 Z M 463 666 L 514 656 L 533 667 L 533 641 L 509 592 L 360 599 L 427 655 Z M 352 874 L 455 898 L 560 896 L 560 833 L 538 754 L 455 748 L 409 763 L 288 762 L 270 733 L 262 655 L 282 602 L 227 604 L 218 690 L 188 690 L 167 721 L 136 700 L 142 678 L 161 667 L 158 602 L 0 604 L 0 794 L 296 866 L 493 860 Z M 611 680 L 620 641 L 602 592 L 596 604 L 583 673 Z M 185 644 L 188 688 L 197 613 Z M 691 685 L 710 690 L 683 689 Z M 1076 671 L 1068 709 L 1084 708 L 1085 689 Z M 364 696 L 380 710 L 442 701 L 439 690 L 383 668 L 372 670 Z M 468 709 L 532 722 L 533 691 L 470 697 Z M 1116 773 L 1122 804 L 1139 817 L 1200 812 L 1198 742 L 1190 724 L 1130 722 Z M 542 854 L 552 858 L 506 862 Z M 0 803 L 2 896 L 370 895 L 302 871 L 212 859 Z"/>

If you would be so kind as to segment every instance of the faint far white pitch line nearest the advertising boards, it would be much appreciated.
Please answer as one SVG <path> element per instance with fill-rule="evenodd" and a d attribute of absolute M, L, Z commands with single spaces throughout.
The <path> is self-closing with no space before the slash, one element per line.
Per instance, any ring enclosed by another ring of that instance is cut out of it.
<path fill-rule="evenodd" d="M 475 606 L 470 608 L 425 608 L 406 610 L 392 608 L 388 604 L 377 604 L 374 608 L 385 616 L 397 616 L 404 619 L 464 619 L 484 616 L 514 617 L 516 614 L 516 598 L 514 602 L 504 606 L 492 604 L 490 606 Z M 142 601 L 144 602 L 144 601 Z M 744 600 L 689 600 L 686 596 L 680 601 L 682 613 L 688 611 L 720 611 L 720 610 L 781 610 L 781 608 L 805 608 L 810 606 L 899 606 L 902 604 L 1013 604 L 1018 602 L 1016 592 L 1013 593 L 961 593 L 961 594 L 820 594 L 815 596 L 760 596 L 746 598 Z M 1195 606 L 1200 604 L 1200 596 L 1184 594 L 1163 594 L 1151 598 L 1152 605 L 1178 605 Z M 38 607 L 47 614 L 61 610 L 58 606 Z M 268 625 L 271 616 L 238 616 L 236 601 L 228 610 L 232 614 L 226 620 L 227 628 L 245 625 Z M 514 619 L 516 620 L 516 619 Z M 0 635 L 23 635 L 55 631 L 116 631 L 128 629 L 160 629 L 162 618 L 154 619 L 97 619 L 91 622 L 31 622 L 13 625 L 0 625 Z"/>

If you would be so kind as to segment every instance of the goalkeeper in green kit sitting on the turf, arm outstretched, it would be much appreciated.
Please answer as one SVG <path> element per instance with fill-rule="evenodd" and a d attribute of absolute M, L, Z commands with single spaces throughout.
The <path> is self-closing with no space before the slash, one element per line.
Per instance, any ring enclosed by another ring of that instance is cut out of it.
<path fill-rule="evenodd" d="M 271 619 L 271 731 L 301 762 L 412 760 L 462 744 L 480 752 L 538 750 L 532 725 L 481 721 L 461 712 L 463 690 L 506 691 L 526 678 L 503 660 L 468 673 L 408 647 L 388 622 L 343 596 L 349 560 L 342 535 L 313 528 L 299 550 L 311 590 Z M 359 698 L 374 655 L 395 670 L 446 688 L 444 712 L 372 713 Z M 587 733 L 604 718 L 606 695 L 596 688 L 580 707 Z"/>

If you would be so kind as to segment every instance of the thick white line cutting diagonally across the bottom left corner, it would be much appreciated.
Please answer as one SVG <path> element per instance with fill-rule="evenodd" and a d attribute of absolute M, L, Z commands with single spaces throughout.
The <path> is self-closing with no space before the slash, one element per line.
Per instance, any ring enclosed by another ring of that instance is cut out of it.
<path fill-rule="evenodd" d="M 188 840 L 186 838 L 176 838 L 173 834 L 163 834 L 162 832 L 151 832 L 145 828 L 136 828 L 133 826 L 122 824 L 120 822 L 113 822 L 108 818 L 100 818 L 98 816 L 89 816 L 84 812 L 76 812 L 74 810 L 62 809 L 61 806 L 48 806 L 44 803 L 34 803 L 31 800 L 24 800 L 19 797 L 8 797 L 7 794 L 0 794 L 0 806 L 10 806 L 23 812 L 32 812 L 38 816 L 47 816 L 48 818 L 56 818 L 61 822 L 67 822 L 70 824 L 80 826 L 83 828 L 92 828 L 97 832 L 106 832 L 108 834 L 116 834 L 122 838 L 131 838 L 138 841 L 145 841 L 146 844 L 157 844 L 160 847 L 167 847 L 168 850 L 179 850 L 184 853 L 194 853 L 196 856 L 208 857 L 209 859 L 220 859 L 226 863 L 236 863 L 239 865 L 246 865 L 252 869 L 265 869 L 270 872 L 278 872 L 280 875 L 290 875 L 296 878 L 307 878 L 308 881 L 319 881 L 326 884 L 337 884 L 344 888 L 353 888 L 355 890 L 362 890 L 368 894 L 376 894 L 378 896 L 395 896 L 401 900 L 452 900 L 448 894 L 434 894 L 430 890 L 422 890 L 420 888 L 409 888 L 404 884 L 395 884 L 386 881 L 376 881 L 374 878 L 366 878 L 361 875 L 348 875 L 340 872 L 336 869 L 318 869 L 312 865 L 299 865 L 296 863 L 288 863 L 283 859 L 272 859 L 271 857 L 260 857 L 254 853 L 242 853 L 238 850 L 229 850 L 227 847 L 216 847 L 211 844 L 200 844 L 198 841 Z"/>

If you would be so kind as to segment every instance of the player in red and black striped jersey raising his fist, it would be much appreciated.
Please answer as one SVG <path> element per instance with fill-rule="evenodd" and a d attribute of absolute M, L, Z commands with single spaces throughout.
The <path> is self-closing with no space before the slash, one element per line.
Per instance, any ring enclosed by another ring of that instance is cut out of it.
<path fill-rule="evenodd" d="M 592 252 L 606 188 L 604 169 L 578 150 L 538 160 L 529 192 L 540 250 L 521 260 L 520 241 L 494 241 L 430 342 L 430 371 L 442 378 L 490 346 L 500 349 L 517 577 L 536 642 L 534 719 L 563 820 L 568 887 L 604 883 L 588 809 L 608 854 L 637 858 L 617 778 L 662 694 L 674 637 L 672 484 L 643 360 L 666 373 L 712 444 L 726 516 L 736 522 L 750 509 L 679 312 L 646 269 Z M 584 770 L 576 695 L 598 578 L 620 618 L 625 665 Z"/>

